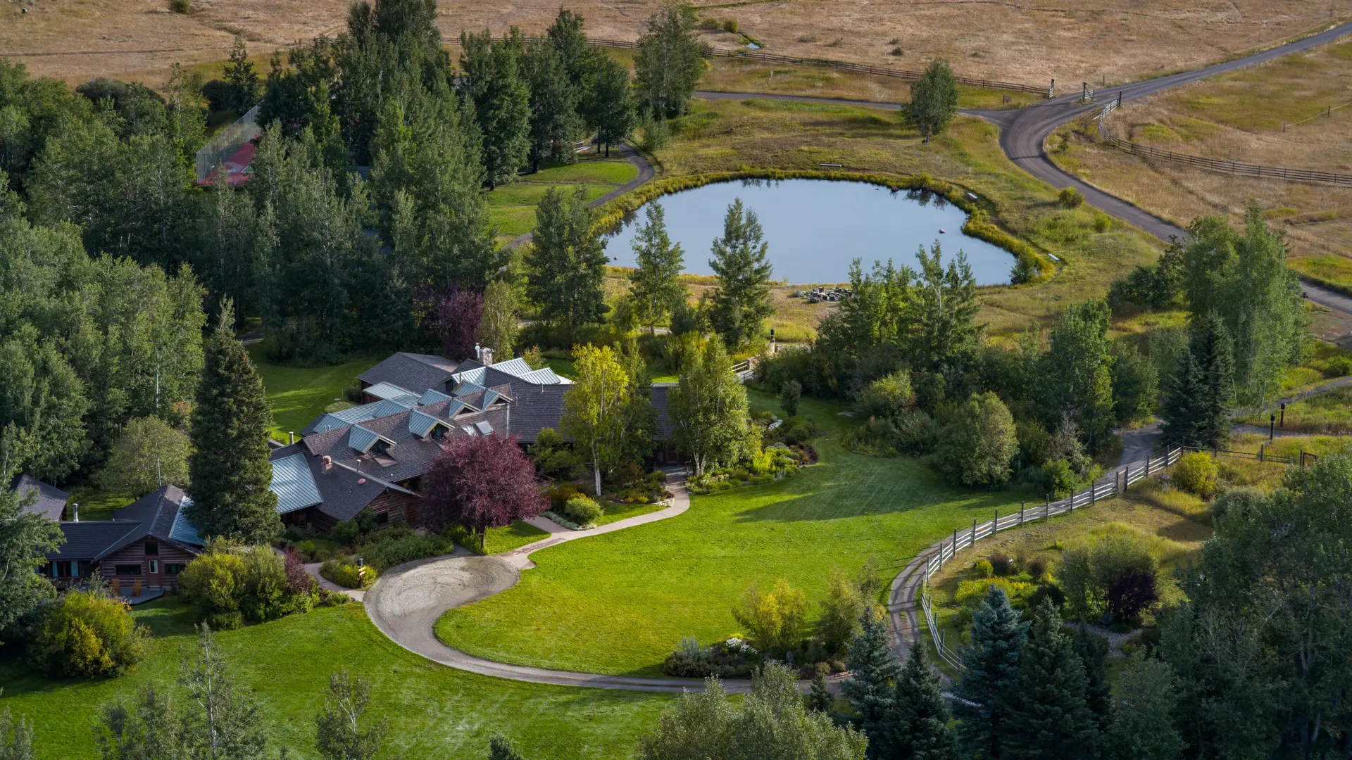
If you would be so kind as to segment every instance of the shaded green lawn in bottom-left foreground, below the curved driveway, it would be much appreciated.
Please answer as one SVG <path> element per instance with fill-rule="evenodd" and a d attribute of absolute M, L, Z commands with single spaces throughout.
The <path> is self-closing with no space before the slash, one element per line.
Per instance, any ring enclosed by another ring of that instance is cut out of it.
<path fill-rule="evenodd" d="M 135 615 L 154 632 L 150 656 L 110 680 L 49 679 L 19 653 L 0 657 L 0 711 L 34 722 L 38 757 L 97 757 L 92 728 L 103 705 L 130 699 L 143 684 L 174 690 L 181 653 L 193 646 L 181 604 L 150 602 Z M 389 756 L 487 757 L 502 732 L 527 757 L 627 759 L 672 696 L 568 688 L 450 669 L 402 649 L 361 604 L 324 607 L 218 634 L 237 684 L 262 707 L 272 752 L 315 753 L 315 713 L 339 667 L 372 680 L 375 718 L 389 719 Z M 177 696 L 176 696 L 177 698 Z"/>

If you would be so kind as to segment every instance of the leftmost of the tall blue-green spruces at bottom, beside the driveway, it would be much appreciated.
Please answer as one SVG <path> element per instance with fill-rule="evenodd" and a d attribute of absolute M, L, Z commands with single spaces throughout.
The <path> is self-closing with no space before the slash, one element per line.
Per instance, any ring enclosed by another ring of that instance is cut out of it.
<path fill-rule="evenodd" d="M 887 645 L 887 626 L 872 610 L 860 617 L 860 630 L 849 642 L 845 667 L 850 678 L 841 694 L 854 707 L 856 721 L 868 737 L 868 756 L 884 756 L 887 730 L 896 706 L 896 679 L 900 668 Z"/>

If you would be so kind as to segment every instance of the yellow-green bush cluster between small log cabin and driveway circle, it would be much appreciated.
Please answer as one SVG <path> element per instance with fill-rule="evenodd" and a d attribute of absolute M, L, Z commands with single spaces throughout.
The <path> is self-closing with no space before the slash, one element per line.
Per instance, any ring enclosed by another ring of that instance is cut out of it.
<path fill-rule="evenodd" d="M 283 557 L 265 545 L 208 545 L 188 563 L 178 583 L 197 617 L 215 630 L 306 613 L 319 600 L 300 554 Z"/>

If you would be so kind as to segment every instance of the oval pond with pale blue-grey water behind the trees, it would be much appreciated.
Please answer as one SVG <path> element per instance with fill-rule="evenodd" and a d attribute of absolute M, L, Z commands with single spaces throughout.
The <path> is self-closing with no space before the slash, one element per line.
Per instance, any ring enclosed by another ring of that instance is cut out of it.
<path fill-rule="evenodd" d="M 944 262 L 967 253 L 977 285 L 1010 281 L 1014 254 L 963 234 L 967 212 L 930 192 L 891 191 L 868 183 L 831 180 L 742 180 L 667 195 L 667 231 L 685 252 L 685 270 L 713 275 L 710 246 L 723 234 L 723 216 L 734 199 L 753 210 L 765 230 L 776 280 L 794 284 L 846 283 L 850 260 L 864 270 L 891 258 L 918 269 L 915 250 L 938 241 Z M 634 266 L 633 239 L 646 211 L 625 220 L 608 237 L 611 265 Z"/>

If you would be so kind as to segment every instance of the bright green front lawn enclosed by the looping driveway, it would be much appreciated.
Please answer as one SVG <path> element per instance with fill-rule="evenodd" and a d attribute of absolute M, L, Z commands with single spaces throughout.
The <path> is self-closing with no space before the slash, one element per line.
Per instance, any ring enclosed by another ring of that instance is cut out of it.
<path fill-rule="evenodd" d="M 753 400 L 777 410 L 767 395 Z M 438 636 L 504 663 L 658 675 L 683 636 L 737 633 L 731 607 L 750 583 L 788 580 L 815 618 L 831 568 L 853 572 L 873 556 L 891 580 L 955 527 L 1017 508 L 1010 494 L 955 490 L 915 460 L 846 453 L 833 438 L 852 423 L 840 408 L 803 402 L 827 437 L 821 464 L 798 477 L 695 496 L 683 515 L 538 552 L 521 583 L 448 613 Z"/>

